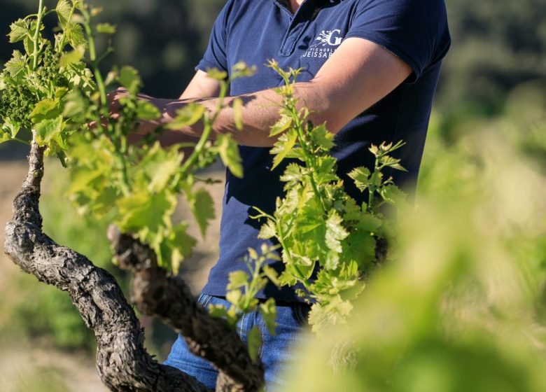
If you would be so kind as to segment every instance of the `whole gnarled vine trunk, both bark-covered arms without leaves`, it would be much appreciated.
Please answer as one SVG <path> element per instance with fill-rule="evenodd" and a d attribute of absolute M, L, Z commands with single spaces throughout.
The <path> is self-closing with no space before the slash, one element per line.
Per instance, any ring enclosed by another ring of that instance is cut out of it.
<path fill-rule="evenodd" d="M 42 232 L 38 210 L 43 148 L 33 141 L 29 173 L 13 202 L 6 225 L 6 254 L 25 272 L 71 296 L 97 338 L 97 370 L 111 391 L 204 392 L 195 378 L 161 365 L 144 349 L 144 330 L 116 280 L 84 255 Z M 158 267 L 146 245 L 109 230 L 120 265 L 134 272 L 131 297 L 144 314 L 155 315 L 182 333 L 190 349 L 220 370 L 216 391 L 258 391 L 263 367 L 253 363 L 246 345 L 225 321 L 211 318 L 179 276 Z"/>

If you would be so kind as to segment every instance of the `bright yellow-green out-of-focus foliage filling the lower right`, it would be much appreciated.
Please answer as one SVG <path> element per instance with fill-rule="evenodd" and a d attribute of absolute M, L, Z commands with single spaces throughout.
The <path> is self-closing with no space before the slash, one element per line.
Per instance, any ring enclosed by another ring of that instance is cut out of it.
<path fill-rule="evenodd" d="M 506 102 L 456 141 L 435 116 L 398 260 L 345 328 L 297 351 L 288 391 L 546 391 L 545 90 Z"/>

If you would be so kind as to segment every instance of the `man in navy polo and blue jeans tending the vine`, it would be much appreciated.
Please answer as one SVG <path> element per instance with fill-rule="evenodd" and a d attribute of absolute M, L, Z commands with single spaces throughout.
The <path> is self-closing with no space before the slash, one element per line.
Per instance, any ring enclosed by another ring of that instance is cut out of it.
<path fill-rule="evenodd" d="M 279 176 L 283 167 L 270 170 L 269 147 L 274 140 L 268 137 L 269 127 L 279 118 L 272 102 L 280 101 L 270 89 L 282 80 L 263 66 L 266 60 L 276 59 L 283 69 L 304 68 L 295 95 L 313 111 L 314 124 L 326 122 L 336 134 L 332 153 L 338 160 L 339 176 L 346 180 L 349 195 L 363 201 L 346 173 L 354 167 L 372 166 L 367 151 L 372 143 L 403 139 L 406 145 L 398 158 L 408 172 L 393 173 L 393 177 L 398 184 L 415 183 L 440 63 L 449 43 L 443 0 L 228 0 L 197 73 L 180 99 L 151 98 L 162 111 L 163 123 L 172 120 L 188 99 L 214 110 L 219 86 L 205 71 L 213 67 L 230 71 L 241 60 L 258 66 L 255 76 L 239 78 L 231 86 L 231 97 L 243 97 L 246 102 L 244 129 L 236 130 L 231 109 L 221 113 L 214 127 L 215 133 L 232 132 L 240 144 L 244 179 L 227 172 L 220 258 L 202 291 L 203 306 L 227 303 L 223 296 L 228 274 L 241 269 L 239 260 L 248 247 L 260 246 L 260 223 L 248 218 L 251 207 L 272 213 L 276 197 L 282 195 Z M 121 94 L 115 92 L 111 99 Z M 197 124 L 166 138 L 176 141 L 200 132 Z M 246 339 L 254 324 L 262 330 L 260 356 L 266 384 L 273 386 L 278 384 L 276 376 L 289 358 L 288 347 L 308 308 L 291 290 L 267 286 L 259 297 L 274 297 L 279 304 L 276 336 L 267 333 L 259 314 L 246 314 L 239 333 Z M 183 339 L 174 344 L 166 363 L 214 389 L 216 370 L 191 355 Z"/>

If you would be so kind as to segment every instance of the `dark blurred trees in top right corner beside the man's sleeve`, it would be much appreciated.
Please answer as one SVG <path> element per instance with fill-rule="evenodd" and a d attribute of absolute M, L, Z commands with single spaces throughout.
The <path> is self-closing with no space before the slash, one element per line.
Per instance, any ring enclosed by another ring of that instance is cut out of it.
<path fill-rule="evenodd" d="M 546 1 L 446 0 L 451 48 L 437 109 L 498 113 L 507 92 L 546 78 Z"/>

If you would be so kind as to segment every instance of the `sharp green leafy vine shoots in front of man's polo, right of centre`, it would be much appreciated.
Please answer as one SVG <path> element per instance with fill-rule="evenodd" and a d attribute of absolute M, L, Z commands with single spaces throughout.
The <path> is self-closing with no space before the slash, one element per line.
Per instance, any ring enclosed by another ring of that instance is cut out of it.
<path fill-rule="evenodd" d="M 274 214 L 257 209 L 254 218 L 265 218 L 259 237 L 276 239 L 282 247 L 285 269 L 273 279 L 280 286 L 304 287 L 297 293 L 313 302 L 309 323 L 321 332 L 326 325 L 344 323 L 365 278 L 384 258 L 381 247 L 391 242 L 385 204 L 400 204 L 405 194 L 383 171 L 404 170 L 390 155 L 403 143 L 372 145 L 373 172 L 357 167 L 349 173 L 357 188 L 367 192 L 367 202 L 358 205 L 345 192 L 330 155 L 334 134 L 325 124 L 314 126 L 308 109 L 298 109 L 294 83 L 301 70 L 283 71 L 274 61 L 269 66 L 285 82 L 276 90 L 283 99 L 281 118 L 270 132 L 278 138 L 271 150 L 273 168 L 285 159 L 292 162 L 281 176 L 286 195 L 277 199 Z"/>

